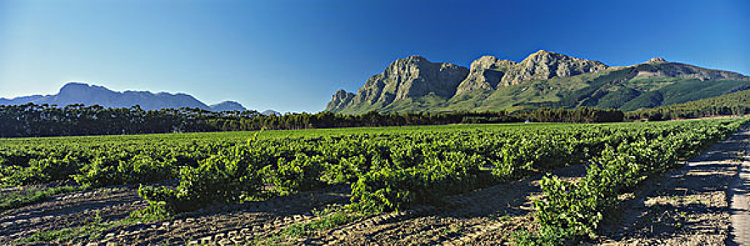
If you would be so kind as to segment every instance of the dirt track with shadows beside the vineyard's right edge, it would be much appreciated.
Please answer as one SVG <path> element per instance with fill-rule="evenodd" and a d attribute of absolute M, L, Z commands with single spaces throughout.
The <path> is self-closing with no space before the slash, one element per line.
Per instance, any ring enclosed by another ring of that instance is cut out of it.
<path fill-rule="evenodd" d="M 747 245 L 747 166 L 750 131 L 741 130 L 688 161 L 650 178 L 607 218 L 602 245 Z M 740 171 L 743 170 L 743 171 Z M 745 173 L 745 175 L 742 175 Z M 744 195 L 744 196 L 743 196 Z M 743 200 L 744 199 L 744 200 Z"/>

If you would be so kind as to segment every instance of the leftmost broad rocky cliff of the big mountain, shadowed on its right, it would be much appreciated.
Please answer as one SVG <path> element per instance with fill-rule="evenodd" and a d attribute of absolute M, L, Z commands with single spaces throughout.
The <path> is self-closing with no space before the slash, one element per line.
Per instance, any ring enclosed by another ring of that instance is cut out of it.
<path fill-rule="evenodd" d="M 352 104 L 391 104 L 393 101 L 436 95 L 450 98 L 469 70 L 450 63 L 430 62 L 422 56 L 401 58 L 381 74 L 370 77 L 356 95 L 336 92 L 329 110 Z M 351 98 L 351 99 L 350 99 Z"/>

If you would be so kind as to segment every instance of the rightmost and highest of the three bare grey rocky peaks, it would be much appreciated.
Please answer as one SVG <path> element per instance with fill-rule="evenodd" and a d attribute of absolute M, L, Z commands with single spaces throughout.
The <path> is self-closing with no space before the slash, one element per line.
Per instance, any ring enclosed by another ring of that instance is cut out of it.
<path fill-rule="evenodd" d="M 604 63 L 539 50 L 526 57 L 502 77 L 502 86 L 517 85 L 552 77 L 570 77 L 607 69 Z"/>

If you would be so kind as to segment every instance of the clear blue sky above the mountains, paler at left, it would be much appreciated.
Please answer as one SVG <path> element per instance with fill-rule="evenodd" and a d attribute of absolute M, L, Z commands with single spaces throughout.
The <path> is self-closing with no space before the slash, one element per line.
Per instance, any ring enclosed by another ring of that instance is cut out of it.
<path fill-rule="evenodd" d="M 750 1 L 0 1 L 0 97 L 67 81 L 318 112 L 396 58 L 538 49 L 750 74 Z"/>

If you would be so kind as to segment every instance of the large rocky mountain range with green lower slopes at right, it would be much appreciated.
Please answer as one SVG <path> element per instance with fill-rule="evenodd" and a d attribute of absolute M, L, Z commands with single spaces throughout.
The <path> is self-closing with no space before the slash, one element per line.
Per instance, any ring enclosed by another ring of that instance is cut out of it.
<path fill-rule="evenodd" d="M 464 68 L 400 58 L 365 81 L 358 92 L 339 90 L 335 113 L 518 110 L 599 107 L 623 111 L 679 104 L 750 89 L 750 77 L 664 58 L 631 66 L 539 50 L 521 62 L 482 56 Z"/>

